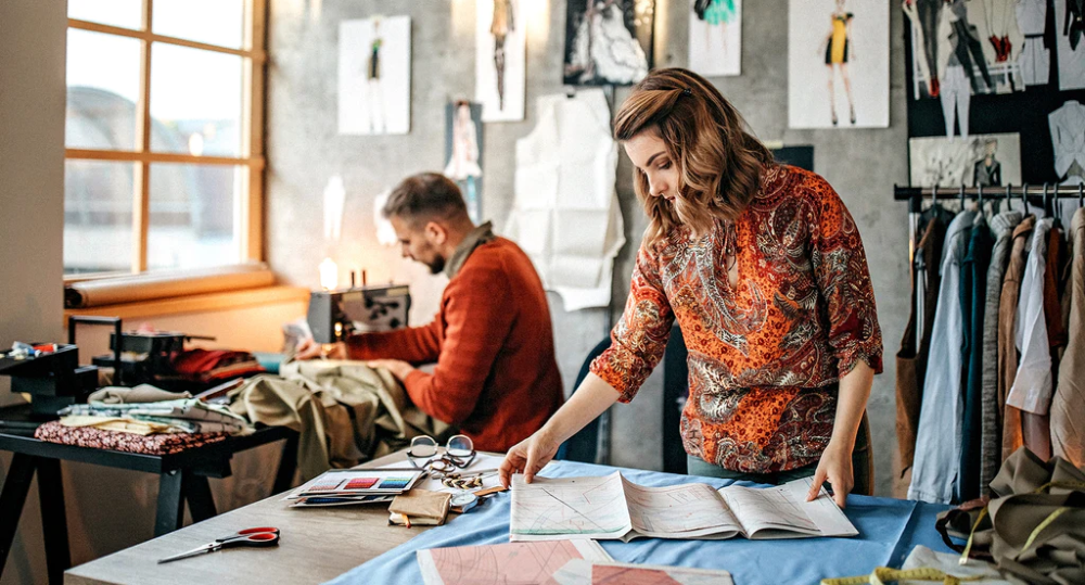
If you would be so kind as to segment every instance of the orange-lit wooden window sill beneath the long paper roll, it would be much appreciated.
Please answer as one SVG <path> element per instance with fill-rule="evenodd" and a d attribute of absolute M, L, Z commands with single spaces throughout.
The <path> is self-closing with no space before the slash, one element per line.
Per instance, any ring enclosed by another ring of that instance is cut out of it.
<path fill-rule="evenodd" d="M 140 319 L 159 317 L 163 315 L 181 315 L 187 313 L 212 313 L 260 305 L 283 303 L 303 303 L 309 298 L 309 290 L 301 287 L 263 287 L 241 291 L 227 291 L 207 294 L 155 298 L 135 303 L 118 303 L 97 307 L 65 309 L 64 327 L 67 318 L 73 315 L 98 315 L 120 317 L 122 319 Z"/>

